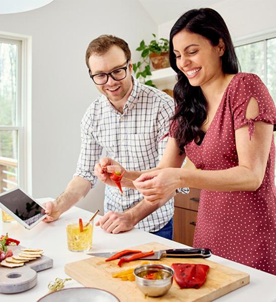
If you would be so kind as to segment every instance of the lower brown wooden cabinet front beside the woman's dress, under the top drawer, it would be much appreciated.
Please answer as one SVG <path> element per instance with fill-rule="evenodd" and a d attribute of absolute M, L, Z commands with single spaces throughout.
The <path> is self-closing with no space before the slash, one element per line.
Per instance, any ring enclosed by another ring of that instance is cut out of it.
<path fill-rule="evenodd" d="M 175 206 L 174 241 L 193 245 L 196 217 L 197 211 Z"/>

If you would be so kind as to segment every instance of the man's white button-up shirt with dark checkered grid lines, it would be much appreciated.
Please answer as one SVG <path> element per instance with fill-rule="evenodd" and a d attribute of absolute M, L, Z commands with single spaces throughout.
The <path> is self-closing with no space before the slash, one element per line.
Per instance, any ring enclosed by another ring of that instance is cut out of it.
<path fill-rule="evenodd" d="M 133 90 L 123 114 L 114 109 L 104 95 L 99 96 L 87 109 L 81 121 L 81 153 L 77 171 L 91 182 L 96 177 L 94 165 L 99 161 L 102 150 L 127 170 L 147 170 L 158 165 L 168 138 L 161 139 L 169 131 L 169 119 L 174 112 L 174 100 L 167 94 L 140 84 L 133 78 Z M 134 189 L 105 186 L 104 212 L 123 212 L 143 196 Z M 173 217 L 173 199 L 141 220 L 135 227 L 156 232 Z"/>

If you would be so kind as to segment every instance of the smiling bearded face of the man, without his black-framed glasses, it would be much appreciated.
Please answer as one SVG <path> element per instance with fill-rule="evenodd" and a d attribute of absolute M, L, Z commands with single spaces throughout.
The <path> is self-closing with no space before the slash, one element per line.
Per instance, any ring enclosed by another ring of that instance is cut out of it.
<path fill-rule="evenodd" d="M 118 47 L 111 47 L 105 54 L 96 55 L 93 54 L 88 60 L 91 74 L 97 73 L 109 73 L 115 69 L 125 67 L 127 65 L 127 59 L 124 51 Z M 115 80 L 110 75 L 108 81 L 103 85 L 97 85 L 97 90 L 105 95 L 109 101 L 114 103 L 120 101 L 126 101 L 132 91 L 132 64 L 129 64 L 127 69 L 127 76 L 122 80 Z"/>

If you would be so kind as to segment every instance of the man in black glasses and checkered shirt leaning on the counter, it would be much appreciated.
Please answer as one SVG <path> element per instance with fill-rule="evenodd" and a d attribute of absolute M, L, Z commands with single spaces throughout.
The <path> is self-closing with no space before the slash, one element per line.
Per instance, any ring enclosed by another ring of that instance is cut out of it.
<path fill-rule="evenodd" d="M 140 84 L 132 77 L 131 53 L 121 38 L 102 35 L 86 51 L 89 75 L 101 95 L 87 109 L 81 122 L 81 153 L 74 178 L 54 202 L 46 204 L 49 216 L 57 220 L 86 196 L 96 183 L 95 164 L 103 150 L 129 170 L 157 166 L 167 140 L 174 101 L 157 89 Z M 173 200 L 151 205 L 135 189 L 105 187 L 105 215 L 97 225 L 109 233 L 134 226 L 172 239 Z"/>

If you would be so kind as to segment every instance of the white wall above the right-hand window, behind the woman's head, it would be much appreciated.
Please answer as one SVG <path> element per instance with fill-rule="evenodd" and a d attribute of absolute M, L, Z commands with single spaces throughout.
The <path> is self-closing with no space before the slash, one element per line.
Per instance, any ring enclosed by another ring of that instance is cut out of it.
<path fill-rule="evenodd" d="M 194 8 L 201 7 L 206 7 L 204 0 L 201 5 Z M 222 15 L 234 42 L 247 35 L 276 29 L 275 0 L 225 0 L 207 7 Z M 182 13 L 179 15 L 181 16 Z M 169 37 L 170 30 L 177 19 L 159 24 L 158 36 Z"/>

